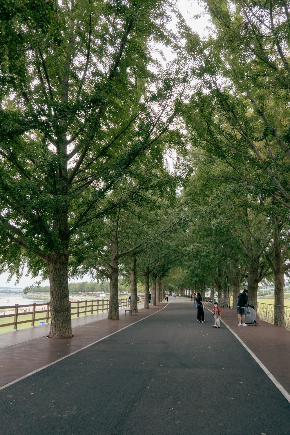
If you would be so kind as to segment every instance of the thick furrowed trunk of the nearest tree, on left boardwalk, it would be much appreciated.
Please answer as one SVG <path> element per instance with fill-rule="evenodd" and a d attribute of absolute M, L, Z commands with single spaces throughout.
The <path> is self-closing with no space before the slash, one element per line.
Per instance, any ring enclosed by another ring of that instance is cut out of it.
<path fill-rule="evenodd" d="M 49 338 L 71 338 L 70 298 L 68 290 L 68 250 L 48 257 L 50 282 Z"/>

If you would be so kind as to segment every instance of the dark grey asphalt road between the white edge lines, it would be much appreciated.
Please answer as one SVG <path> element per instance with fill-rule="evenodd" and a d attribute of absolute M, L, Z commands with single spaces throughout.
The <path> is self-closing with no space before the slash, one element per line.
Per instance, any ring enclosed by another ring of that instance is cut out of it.
<path fill-rule="evenodd" d="M 290 404 L 193 304 L 156 314 L 0 391 L 3 435 L 282 435 Z"/>

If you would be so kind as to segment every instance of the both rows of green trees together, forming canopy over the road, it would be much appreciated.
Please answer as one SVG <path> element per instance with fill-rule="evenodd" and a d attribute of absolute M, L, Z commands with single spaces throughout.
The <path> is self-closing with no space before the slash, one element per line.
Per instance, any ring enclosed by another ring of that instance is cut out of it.
<path fill-rule="evenodd" d="M 87 273 L 109 319 L 120 277 L 134 310 L 138 280 L 148 308 L 150 285 L 152 304 L 165 285 L 225 299 L 226 274 L 254 302 L 273 275 L 283 305 L 287 3 L 205 7 L 202 40 L 169 0 L 1 5 L 0 271 L 49 277 L 49 337 L 71 337 L 68 278 Z"/>

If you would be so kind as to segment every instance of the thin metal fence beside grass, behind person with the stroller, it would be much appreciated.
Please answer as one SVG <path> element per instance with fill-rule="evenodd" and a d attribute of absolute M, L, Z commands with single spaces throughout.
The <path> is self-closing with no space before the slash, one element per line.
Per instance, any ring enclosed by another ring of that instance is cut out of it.
<path fill-rule="evenodd" d="M 237 301 L 234 302 L 233 307 L 237 307 Z M 290 307 L 265 304 L 263 302 L 257 302 L 256 304 L 252 301 L 248 301 L 248 305 L 254 305 L 258 319 L 290 331 Z"/>

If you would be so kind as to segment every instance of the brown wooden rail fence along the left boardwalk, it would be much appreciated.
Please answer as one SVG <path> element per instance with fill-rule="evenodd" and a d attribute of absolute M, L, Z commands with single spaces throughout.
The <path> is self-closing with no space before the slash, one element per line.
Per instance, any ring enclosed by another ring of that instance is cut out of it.
<path fill-rule="evenodd" d="M 138 295 L 139 303 L 144 302 L 144 295 Z M 119 308 L 129 307 L 129 300 L 119 299 Z M 12 311 L 11 311 L 12 310 Z M 72 318 L 87 315 L 104 313 L 109 310 L 109 299 L 86 299 L 84 301 L 70 301 L 70 313 Z M 13 312 L 14 311 L 14 312 Z M 13 326 L 14 331 L 18 331 L 17 326 L 23 323 L 30 323 L 31 327 L 45 325 L 50 321 L 50 302 L 31 305 L 8 305 L 0 306 L 0 328 Z M 7 322 L 2 323 L 3 320 Z M 22 320 L 23 319 L 23 320 Z"/>

